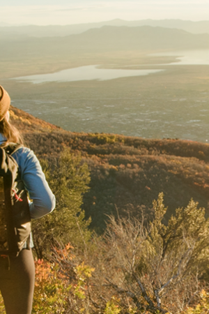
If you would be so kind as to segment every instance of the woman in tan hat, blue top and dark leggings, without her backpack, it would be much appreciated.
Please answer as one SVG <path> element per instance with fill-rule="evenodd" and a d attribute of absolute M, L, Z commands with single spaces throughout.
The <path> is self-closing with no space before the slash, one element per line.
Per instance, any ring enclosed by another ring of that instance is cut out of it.
<path fill-rule="evenodd" d="M 18 130 L 9 122 L 10 96 L 0 85 L 0 145 L 21 143 Z M 40 218 L 53 211 L 55 197 L 50 190 L 38 159 L 30 149 L 21 146 L 12 154 L 20 169 L 24 187 L 32 202 L 29 204 L 31 218 Z M 32 241 L 31 241 L 32 242 Z M 8 260 L 0 257 L 0 290 L 7 314 L 31 314 L 35 268 L 33 254 L 27 244 L 17 257 Z"/>

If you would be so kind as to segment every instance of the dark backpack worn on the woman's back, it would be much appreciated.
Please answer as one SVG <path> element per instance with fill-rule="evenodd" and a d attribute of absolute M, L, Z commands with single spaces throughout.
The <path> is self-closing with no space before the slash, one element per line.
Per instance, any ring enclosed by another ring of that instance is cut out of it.
<path fill-rule="evenodd" d="M 11 156 L 20 144 L 0 147 L 0 255 L 16 257 L 29 246 L 31 217 L 20 170 Z"/>

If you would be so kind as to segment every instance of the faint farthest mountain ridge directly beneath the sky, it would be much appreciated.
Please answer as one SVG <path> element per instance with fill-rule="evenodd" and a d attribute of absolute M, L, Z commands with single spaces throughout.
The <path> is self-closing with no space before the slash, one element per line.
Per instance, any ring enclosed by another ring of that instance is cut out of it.
<path fill-rule="evenodd" d="M 185 21 L 185 20 L 139 20 L 139 21 L 125 21 L 125 20 L 111 20 L 97 23 L 86 24 L 71 24 L 71 25 L 26 25 L 26 26 L 13 26 L 10 27 L 0 24 L 0 38 L 10 36 L 26 36 L 26 37 L 54 37 L 54 36 L 69 36 L 76 33 L 83 33 L 88 29 L 100 28 L 103 26 L 115 27 L 164 27 L 170 29 L 183 29 L 190 33 L 209 33 L 209 21 Z"/>

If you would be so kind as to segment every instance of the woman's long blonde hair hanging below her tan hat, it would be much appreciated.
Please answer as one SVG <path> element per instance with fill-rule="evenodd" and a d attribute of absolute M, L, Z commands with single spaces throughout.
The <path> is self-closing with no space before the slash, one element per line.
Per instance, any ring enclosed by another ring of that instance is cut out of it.
<path fill-rule="evenodd" d="M 6 146 L 9 143 L 20 143 L 23 144 L 22 136 L 20 135 L 20 132 L 10 124 L 7 119 L 3 119 L 0 121 L 0 133 L 6 137 L 6 142 L 4 143 L 4 146 Z"/>

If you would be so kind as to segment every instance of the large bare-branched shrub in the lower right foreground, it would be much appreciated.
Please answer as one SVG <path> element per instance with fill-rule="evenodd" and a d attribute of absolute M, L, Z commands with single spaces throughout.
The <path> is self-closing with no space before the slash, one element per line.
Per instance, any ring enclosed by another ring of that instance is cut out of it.
<path fill-rule="evenodd" d="M 100 294 L 107 296 L 106 283 L 121 308 L 132 304 L 135 313 L 180 313 L 194 302 L 201 278 L 208 276 L 209 248 L 209 220 L 197 206 L 191 200 L 164 225 L 167 208 L 160 193 L 148 228 L 143 221 L 111 217 L 99 242 L 103 260 L 98 260 L 108 261 L 105 267 L 100 262 Z"/>

